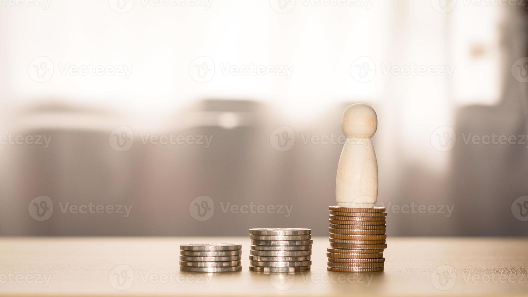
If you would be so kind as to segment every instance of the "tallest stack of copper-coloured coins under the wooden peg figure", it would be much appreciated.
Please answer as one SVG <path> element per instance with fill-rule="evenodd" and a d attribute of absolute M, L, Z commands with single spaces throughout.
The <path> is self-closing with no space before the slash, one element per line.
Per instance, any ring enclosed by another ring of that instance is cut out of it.
<path fill-rule="evenodd" d="M 385 258 L 385 217 L 383 207 L 344 208 L 331 206 L 330 246 L 326 249 L 328 271 L 379 272 Z"/>

